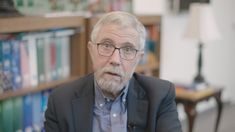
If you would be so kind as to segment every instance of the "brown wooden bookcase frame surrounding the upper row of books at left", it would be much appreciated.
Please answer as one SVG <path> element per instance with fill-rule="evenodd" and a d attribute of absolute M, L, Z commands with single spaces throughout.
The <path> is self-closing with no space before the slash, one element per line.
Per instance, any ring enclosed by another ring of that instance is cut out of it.
<path fill-rule="evenodd" d="M 58 85 L 71 82 L 85 72 L 85 19 L 81 16 L 66 17 L 11 17 L 0 18 L 0 34 L 44 31 L 58 28 L 74 28 L 76 33 L 71 36 L 70 47 L 70 76 L 62 80 L 39 84 L 36 87 L 20 88 L 16 91 L 0 93 L 0 101 L 12 97 L 24 96 L 31 93 L 47 90 Z"/>

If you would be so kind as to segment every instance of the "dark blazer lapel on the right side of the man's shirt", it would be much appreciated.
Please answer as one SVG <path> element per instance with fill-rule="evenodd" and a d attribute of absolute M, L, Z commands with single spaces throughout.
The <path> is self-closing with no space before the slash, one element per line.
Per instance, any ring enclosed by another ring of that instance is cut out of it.
<path fill-rule="evenodd" d="M 148 100 L 144 89 L 132 78 L 127 95 L 128 129 L 145 128 L 147 125 Z"/>

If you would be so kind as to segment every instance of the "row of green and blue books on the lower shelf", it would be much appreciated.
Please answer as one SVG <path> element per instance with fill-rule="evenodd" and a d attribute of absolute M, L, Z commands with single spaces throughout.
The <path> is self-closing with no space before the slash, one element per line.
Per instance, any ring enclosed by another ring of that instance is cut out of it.
<path fill-rule="evenodd" d="M 0 102 L 0 132 L 43 132 L 50 90 Z"/>

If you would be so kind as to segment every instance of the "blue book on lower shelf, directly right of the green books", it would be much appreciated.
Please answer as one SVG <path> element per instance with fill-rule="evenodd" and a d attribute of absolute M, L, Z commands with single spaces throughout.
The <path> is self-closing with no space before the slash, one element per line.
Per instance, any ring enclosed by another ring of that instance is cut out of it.
<path fill-rule="evenodd" d="M 23 97 L 23 129 L 25 132 L 33 131 L 32 128 L 32 96 Z"/>

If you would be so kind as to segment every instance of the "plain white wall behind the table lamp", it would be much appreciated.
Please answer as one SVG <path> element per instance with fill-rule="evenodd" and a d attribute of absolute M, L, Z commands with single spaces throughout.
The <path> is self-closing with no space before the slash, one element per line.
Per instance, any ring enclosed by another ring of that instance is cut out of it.
<path fill-rule="evenodd" d="M 212 5 L 222 39 L 205 44 L 202 72 L 209 83 L 225 87 L 225 100 L 235 101 L 235 1 L 213 0 Z M 196 74 L 197 42 L 183 38 L 187 21 L 188 13 L 164 14 L 161 78 L 190 83 Z"/>

